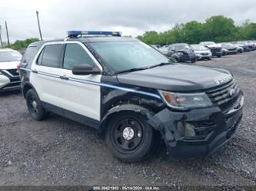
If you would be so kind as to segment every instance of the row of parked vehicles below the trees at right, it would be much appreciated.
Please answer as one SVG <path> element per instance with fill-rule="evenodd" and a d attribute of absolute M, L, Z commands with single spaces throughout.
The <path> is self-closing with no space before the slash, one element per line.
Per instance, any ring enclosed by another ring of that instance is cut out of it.
<path fill-rule="evenodd" d="M 199 44 L 177 43 L 158 48 L 158 51 L 178 62 L 192 62 L 197 60 L 211 60 L 212 57 L 221 58 L 228 54 L 238 54 L 244 51 L 254 51 L 256 41 L 235 41 L 215 43 L 214 41 L 202 41 Z"/>

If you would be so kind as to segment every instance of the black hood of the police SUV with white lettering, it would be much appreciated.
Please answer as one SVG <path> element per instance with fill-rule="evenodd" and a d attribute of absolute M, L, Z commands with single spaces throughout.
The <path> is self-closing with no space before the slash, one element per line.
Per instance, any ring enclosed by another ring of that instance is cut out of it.
<path fill-rule="evenodd" d="M 143 71 L 118 74 L 121 84 L 165 91 L 202 91 L 230 81 L 228 71 L 188 64 L 168 64 Z"/>

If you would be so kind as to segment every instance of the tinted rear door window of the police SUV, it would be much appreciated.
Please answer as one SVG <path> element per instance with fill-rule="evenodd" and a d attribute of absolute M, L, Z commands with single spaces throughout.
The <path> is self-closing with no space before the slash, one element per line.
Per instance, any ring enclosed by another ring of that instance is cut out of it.
<path fill-rule="evenodd" d="M 42 50 L 38 58 L 38 65 L 59 68 L 62 54 L 62 44 L 49 44 Z"/>

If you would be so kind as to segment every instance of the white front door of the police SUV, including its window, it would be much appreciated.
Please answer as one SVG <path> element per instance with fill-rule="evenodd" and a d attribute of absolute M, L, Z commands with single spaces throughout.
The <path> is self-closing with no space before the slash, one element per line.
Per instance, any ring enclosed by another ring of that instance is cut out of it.
<path fill-rule="evenodd" d="M 84 44 L 78 41 L 65 41 L 62 82 L 58 87 L 62 107 L 76 114 L 100 120 L 101 87 L 91 84 L 100 83 L 101 74 L 74 75 L 72 68 L 79 64 L 90 64 L 102 71 L 101 65 Z"/>

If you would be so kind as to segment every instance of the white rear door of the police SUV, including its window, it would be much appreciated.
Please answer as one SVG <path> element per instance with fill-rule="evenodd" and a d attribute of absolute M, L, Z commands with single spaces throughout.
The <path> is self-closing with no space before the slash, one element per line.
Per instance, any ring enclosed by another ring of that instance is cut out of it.
<path fill-rule="evenodd" d="M 61 106 L 62 54 L 64 44 L 45 44 L 34 64 L 30 81 L 35 87 L 40 100 L 45 103 Z"/>

